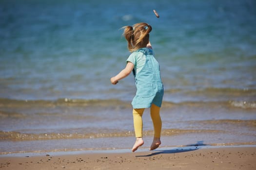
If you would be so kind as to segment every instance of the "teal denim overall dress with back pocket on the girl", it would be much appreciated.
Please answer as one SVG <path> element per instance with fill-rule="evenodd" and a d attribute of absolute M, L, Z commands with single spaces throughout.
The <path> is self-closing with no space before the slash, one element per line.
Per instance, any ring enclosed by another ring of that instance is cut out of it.
<path fill-rule="evenodd" d="M 149 108 L 152 103 L 161 107 L 164 90 L 158 61 L 151 49 L 142 48 L 136 52 L 144 53 L 146 60 L 137 74 L 133 70 L 137 88 L 136 96 L 132 101 L 133 108 Z"/>

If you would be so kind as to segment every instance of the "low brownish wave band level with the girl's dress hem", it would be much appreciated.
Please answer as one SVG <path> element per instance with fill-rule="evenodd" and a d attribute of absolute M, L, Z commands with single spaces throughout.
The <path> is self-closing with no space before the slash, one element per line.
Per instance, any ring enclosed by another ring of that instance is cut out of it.
<path fill-rule="evenodd" d="M 242 109 L 256 109 L 256 101 L 185 101 L 185 102 L 167 102 L 163 101 L 163 107 L 169 108 L 174 106 L 214 106 L 222 105 L 234 108 Z M 4 99 L 0 98 L 0 108 L 18 108 L 18 107 L 118 107 L 118 108 L 131 108 L 131 102 L 121 101 L 117 99 L 107 99 L 107 100 L 86 100 L 86 99 L 58 99 L 54 101 L 46 100 L 15 100 L 15 99 Z M 18 113 L 13 113 L 18 114 Z M 0 112 L 0 116 L 8 115 L 7 112 Z"/>

